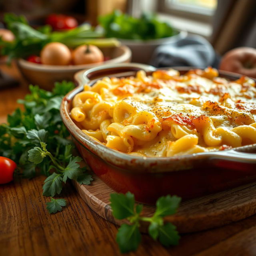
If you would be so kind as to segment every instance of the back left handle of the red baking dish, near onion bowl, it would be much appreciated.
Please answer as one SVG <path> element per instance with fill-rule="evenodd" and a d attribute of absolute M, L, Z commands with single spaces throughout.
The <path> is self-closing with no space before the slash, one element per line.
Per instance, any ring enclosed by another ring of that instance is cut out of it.
<path fill-rule="evenodd" d="M 90 82 L 90 80 L 93 80 L 95 78 L 139 70 L 144 70 L 145 72 L 152 72 L 155 71 L 156 68 L 150 65 L 139 63 L 106 64 L 84 71 L 82 78 L 84 84 L 87 84 L 88 82 Z"/>

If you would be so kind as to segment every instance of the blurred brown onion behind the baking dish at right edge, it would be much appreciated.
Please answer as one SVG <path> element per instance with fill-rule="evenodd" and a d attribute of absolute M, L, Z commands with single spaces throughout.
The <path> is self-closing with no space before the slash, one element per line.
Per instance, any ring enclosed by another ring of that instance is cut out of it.
<path fill-rule="evenodd" d="M 256 49 L 239 47 L 230 50 L 224 54 L 219 69 L 256 78 Z"/>

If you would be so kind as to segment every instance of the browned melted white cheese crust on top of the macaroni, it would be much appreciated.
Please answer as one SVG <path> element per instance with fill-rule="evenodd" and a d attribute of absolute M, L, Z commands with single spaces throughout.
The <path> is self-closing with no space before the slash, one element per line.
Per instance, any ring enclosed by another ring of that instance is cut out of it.
<path fill-rule="evenodd" d="M 234 122 L 230 114 L 236 111 L 237 115 L 246 115 L 248 121 L 255 122 L 256 88 L 252 79 L 242 77 L 229 82 L 224 78 L 214 79 L 215 76 L 208 79 L 188 74 L 178 76 L 176 81 L 176 76 L 170 76 L 168 80 L 161 79 L 161 73 L 173 73 L 173 70 L 159 70 L 160 78 L 148 76 L 142 81 L 136 78 L 112 78 L 116 86 L 106 93 L 106 97 L 112 102 L 128 102 L 139 111 L 152 111 L 159 119 L 173 114 L 191 118 L 214 116 L 214 119 L 219 120 L 228 117 L 228 122 L 221 125 L 235 127 L 240 124 Z"/>

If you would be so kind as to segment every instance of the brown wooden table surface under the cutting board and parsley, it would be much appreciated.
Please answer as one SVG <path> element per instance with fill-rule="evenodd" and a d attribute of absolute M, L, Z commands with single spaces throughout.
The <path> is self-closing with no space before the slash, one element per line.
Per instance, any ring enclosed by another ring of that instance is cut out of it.
<path fill-rule="evenodd" d="M 0 65 L 20 81 L 20 86 L 0 90 L 0 123 L 27 92 L 27 84 L 15 67 Z M 15 180 L 0 186 L 0 255 L 55 256 L 120 255 L 115 242 L 117 226 L 93 212 L 71 184 L 62 197 L 68 207 L 48 214 L 42 196 L 44 177 Z M 149 236 L 142 236 L 136 252 L 125 255 L 154 256 L 246 256 L 256 255 L 256 216 L 220 228 L 184 234 L 176 247 L 164 248 Z"/>

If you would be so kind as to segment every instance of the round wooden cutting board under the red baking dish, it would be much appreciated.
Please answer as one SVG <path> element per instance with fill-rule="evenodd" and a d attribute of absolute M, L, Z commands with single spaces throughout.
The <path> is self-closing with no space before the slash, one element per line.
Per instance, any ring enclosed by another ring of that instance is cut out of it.
<path fill-rule="evenodd" d="M 117 225 L 126 222 L 112 216 L 109 198 L 114 190 L 96 175 L 93 178 L 91 185 L 74 182 L 80 196 L 102 218 Z M 154 211 L 154 206 L 145 204 L 142 214 L 151 216 Z M 188 233 L 223 226 L 255 213 L 256 182 L 182 202 L 178 212 L 165 220 L 172 222 L 180 233 Z M 146 231 L 146 226 L 142 225 L 142 231 Z"/>

